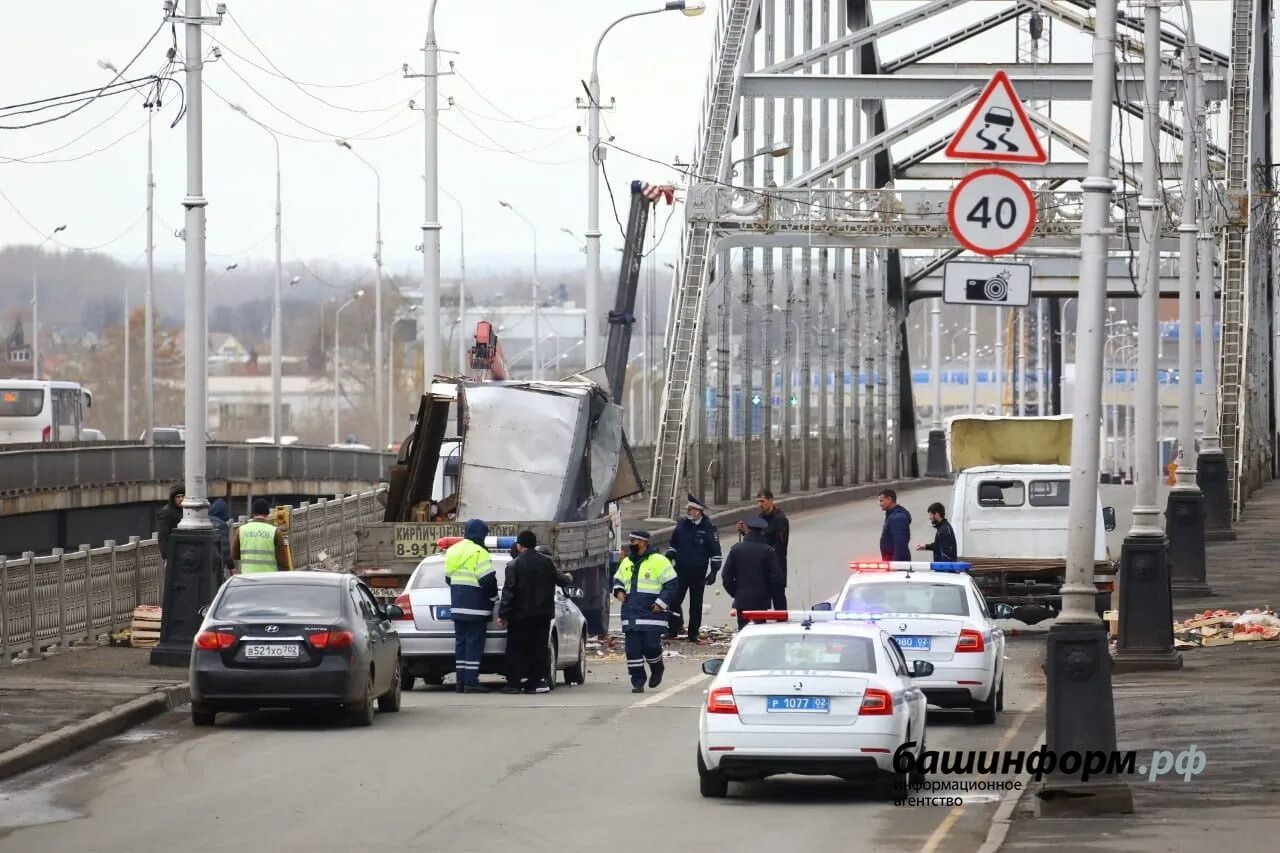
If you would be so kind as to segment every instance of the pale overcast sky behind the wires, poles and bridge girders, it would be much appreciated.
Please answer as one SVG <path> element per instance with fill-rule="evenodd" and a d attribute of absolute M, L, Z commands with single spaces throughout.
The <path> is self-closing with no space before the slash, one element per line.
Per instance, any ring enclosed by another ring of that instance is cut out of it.
<path fill-rule="evenodd" d="M 210 10 L 212 5 L 206 4 Z M 225 45 L 223 59 L 205 68 L 212 90 L 205 97 L 210 264 L 271 256 L 271 141 L 233 113 L 218 97 L 221 95 L 280 131 L 285 260 L 369 263 L 374 178 L 349 151 L 333 142 L 347 137 L 381 173 L 387 265 L 421 269 L 415 246 L 421 242 L 422 222 L 422 113 L 411 111 L 408 101 L 416 99 L 421 105 L 422 81 L 403 79 L 399 68 L 410 63 L 415 72 L 421 70 L 428 4 L 242 0 L 228 5 L 232 17 L 220 27 L 207 28 L 205 41 L 206 50 L 215 45 L 212 38 Z M 442 81 L 442 99 L 452 96 L 454 106 L 442 114 L 440 179 L 465 207 L 468 261 L 506 260 L 517 265 L 531 254 L 527 227 L 498 206 L 498 200 L 504 199 L 536 223 L 544 257 L 576 263 L 577 243 L 561 228 L 579 234 L 585 229 L 586 143 L 575 133 L 575 126 L 585 126 L 585 114 L 575 109 L 575 97 L 584 95 L 580 81 L 590 70 L 591 47 L 603 28 L 622 13 L 655 5 L 660 5 L 658 0 L 440 0 L 439 44 L 445 51 L 456 51 L 447 53 L 444 61 L 452 60 L 461 72 Z M 718 3 L 708 5 L 716 8 Z M 877 14 L 886 18 L 915 5 L 882 3 L 877 4 Z M 4 102 L 49 97 L 109 81 L 111 73 L 100 69 L 97 60 L 123 67 L 160 24 L 159 6 L 159 0 L 6 0 L 9 37 L 0 53 Z M 1229 5 L 1204 1 L 1196 6 L 1201 40 L 1225 50 Z M 923 27 L 883 38 L 882 56 L 896 56 L 919 45 L 925 35 L 936 37 L 997 8 L 969 4 Z M 1140 9 L 1134 12 L 1140 14 Z M 1171 18 L 1181 20 L 1180 13 Z M 700 18 L 652 15 L 626 22 L 605 42 L 600 58 L 603 95 L 605 101 L 618 101 L 617 111 L 605 115 L 607 136 L 657 161 L 621 151 L 609 154 L 608 175 L 623 216 L 630 179 L 671 181 L 676 174 L 660 164 L 676 156 L 690 158 L 714 23 L 710 13 Z M 1053 32 L 1055 59 L 1089 61 L 1088 38 L 1069 35 L 1065 27 Z M 142 53 L 129 77 L 159 69 L 170 44 L 165 28 Z M 179 49 L 183 44 L 179 28 Z M 938 59 L 992 58 L 1014 59 L 1011 24 Z M 342 87 L 300 88 L 274 76 L 278 72 L 271 70 L 271 64 L 302 83 Z M 365 81 L 375 82 L 347 86 Z M 124 261 L 138 259 L 143 247 L 146 159 L 146 113 L 141 104 L 138 96 L 120 95 L 52 124 L 0 131 L 0 156 L 6 159 L 0 160 L 0 191 L 38 231 L 47 233 L 56 224 L 68 224 L 68 231 L 59 234 L 67 245 L 104 246 L 102 251 Z M 178 90 L 170 88 L 155 120 L 156 243 L 163 259 L 174 260 L 182 251 L 173 229 L 183 224 L 184 123 L 175 128 L 169 124 L 179 106 Z M 923 101 L 891 104 L 890 118 L 904 118 L 923 106 Z M 1055 118 L 1085 134 L 1084 109 L 1064 106 Z M 23 118 L 12 117 L 4 123 L 20 124 Z M 1221 126 L 1222 119 L 1215 123 Z M 77 137 L 82 138 L 73 141 Z M 42 155 L 55 147 L 59 150 Z M 1129 159 L 1135 159 L 1135 150 L 1129 149 Z M 1171 146 L 1166 152 L 1174 155 Z M 83 159 L 12 161 L 33 155 L 37 160 Z M 604 254 L 612 256 L 621 240 L 603 184 L 602 196 Z M 445 224 L 442 263 L 448 274 L 458 259 L 457 207 L 448 196 L 442 195 L 440 211 Z M 677 231 L 672 228 L 667 236 L 671 251 L 676 248 Z M 38 240 L 13 206 L 0 200 L 0 245 Z"/>

